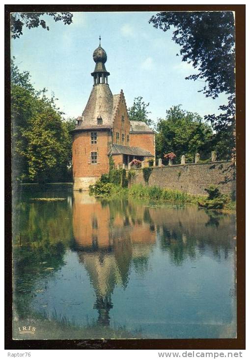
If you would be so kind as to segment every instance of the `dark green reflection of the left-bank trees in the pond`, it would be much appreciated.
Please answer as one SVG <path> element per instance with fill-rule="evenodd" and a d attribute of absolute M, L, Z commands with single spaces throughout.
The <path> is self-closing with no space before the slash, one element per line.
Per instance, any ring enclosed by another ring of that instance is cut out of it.
<path fill-rule="evenodd" d="M 72 237 L 72 211 L 65 201 L 39 202 L 26 191 L 16 205 L 13 225 L 13 299 L 20 318 L 30 311 L 36 284 L 65 264 L 64 255 Z M 48 193 L 54 197 L 55 193 Z M 68 201 L 66 201 L 66 199 Z"/>

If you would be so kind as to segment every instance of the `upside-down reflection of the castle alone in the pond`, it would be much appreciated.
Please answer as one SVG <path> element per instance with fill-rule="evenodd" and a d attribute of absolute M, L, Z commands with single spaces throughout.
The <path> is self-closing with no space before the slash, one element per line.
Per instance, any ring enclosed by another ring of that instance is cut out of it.
<path fill-rule="evenodd" d="M 95 291 L 94 308 L 100 325 L 110 324 L 111 295 L 115 286 L 126 288 L 131 266 L 136 273 L 147 269 L 155 230 L 149 216 L 143 218 L 143 213 L 144 208 L 128 201 L 102 202 L 86 193 L 74 192 L 72 249 Z"/>

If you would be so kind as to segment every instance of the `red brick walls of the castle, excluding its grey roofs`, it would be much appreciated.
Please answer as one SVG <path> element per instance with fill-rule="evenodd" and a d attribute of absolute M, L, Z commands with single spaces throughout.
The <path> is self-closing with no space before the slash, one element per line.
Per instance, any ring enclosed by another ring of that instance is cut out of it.
<path fill-rule="evenodd" d="M 109 172 L 109 152 L 111 145 L 139 147 L 155 155 L 154 133 L 131 133 L 124 93 L 114 97 L 112 128 L 82 129 L 74 132 L 72 165 L 74 189 L 87 190 L 104 173 Z M 133 156 L 129 157 L 133 158 Z M 149 157 L 145 157 L 148 160 Z M 113 155 L 115 165 L 124 163 L 123 154 Z"/>

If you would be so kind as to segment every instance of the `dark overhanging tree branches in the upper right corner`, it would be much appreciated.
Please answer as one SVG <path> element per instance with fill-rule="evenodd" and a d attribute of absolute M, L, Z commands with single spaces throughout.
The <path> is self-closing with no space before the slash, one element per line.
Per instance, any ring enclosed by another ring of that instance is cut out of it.
<path fill-rule="evenodd" d="M 206 97 L 228 95 L 221 114 L 207 115 L 217 132 L 221 155 L 230 157 L 234 148 L 235 128 L 235 26 L 232 11 L 160 12 L 149 20 L 155 28 L 167 31 L 174 27 L 172 39 L 180 46 L 182 61 L 197 70 L 186 79 L 204 82 Z M 178 55 L 178 54 L 177 54 Z M 227 132 L 225 135 L 224 132 Z M 230 145 L 229 145 L 230 144 Z"/>

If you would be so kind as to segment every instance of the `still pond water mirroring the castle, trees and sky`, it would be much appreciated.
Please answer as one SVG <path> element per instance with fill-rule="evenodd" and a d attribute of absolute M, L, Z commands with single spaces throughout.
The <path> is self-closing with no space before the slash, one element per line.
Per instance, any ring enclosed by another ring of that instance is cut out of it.
<path fill-rule="evenodd" d="M 33 199 L 42 197 L 63 200 Z M 234 215 L 70 187 L 23 188 L 14 208 L 14 322 L 44 317 L 132 338 L 236 336 Z"/>

